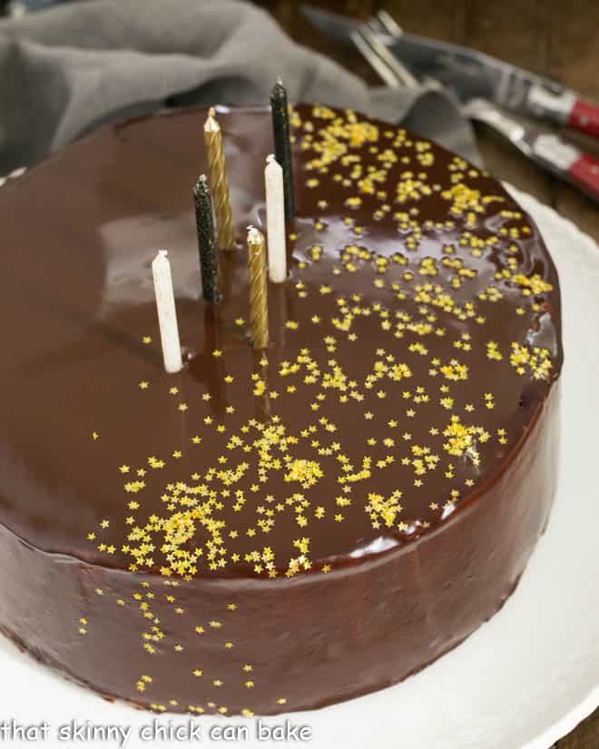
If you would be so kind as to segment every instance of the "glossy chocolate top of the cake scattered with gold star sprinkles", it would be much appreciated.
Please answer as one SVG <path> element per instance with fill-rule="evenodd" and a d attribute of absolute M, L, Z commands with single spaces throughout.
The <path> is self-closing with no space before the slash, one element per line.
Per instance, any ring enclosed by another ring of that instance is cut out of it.
<path fill-rule="evenodd" d="M 300 105 L 290 277 L 256 351 L 241 242 L 265 224 L 270 113 L 218 112 L 240 248 L 221 252 L 216 307 L 191 201 L 205 115 L 103 129 L 0 191 L 0 520 L 45 550 L 183 577 L 326 572 L 450 522 L 561 368 L 535 224 L 436 145 Z"/>

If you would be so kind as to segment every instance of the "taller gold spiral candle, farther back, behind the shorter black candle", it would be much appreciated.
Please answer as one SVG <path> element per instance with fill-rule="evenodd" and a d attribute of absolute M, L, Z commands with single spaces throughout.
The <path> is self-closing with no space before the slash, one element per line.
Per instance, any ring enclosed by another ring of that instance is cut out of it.
<path fill-rule="evenodd" d="M 214 107 L 210 108 L 204 123 L 204 144 L 208 157 L 208 171 L 210 172 L 211 192 L 214 199 L 219 247 L 231 250 L 235 246 L 235 236 L 233 234 L 229 182 L 227 181 L 224 151 L 222 150 L 221 125 L 217 122 Z"/>

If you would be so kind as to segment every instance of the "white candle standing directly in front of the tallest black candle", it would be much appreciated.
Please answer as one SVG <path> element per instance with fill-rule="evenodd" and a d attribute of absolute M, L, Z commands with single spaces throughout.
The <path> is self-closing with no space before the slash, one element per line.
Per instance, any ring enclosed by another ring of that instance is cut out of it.
<path fill-rule="evenodd" d="M 287 243 L 285 241 L 285 192 L 283 170 L 270 154 L 264 170 L 266 183 L 266 229 L 269 249 L 269 276 L 273 283 L 287 278 Z"/>

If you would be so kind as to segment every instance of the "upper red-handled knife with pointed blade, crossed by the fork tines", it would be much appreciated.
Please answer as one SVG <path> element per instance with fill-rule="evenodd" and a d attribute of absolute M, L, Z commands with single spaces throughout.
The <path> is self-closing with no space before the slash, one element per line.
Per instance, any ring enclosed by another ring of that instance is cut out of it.
<path fill-rule="evenodd" d="M 352 34 L 364 28 L 360 21 L 312 5 L 301 5 L 301 12 L 312 25 L 343 44 L 353 44 Z M 584 101 L 553 79 L 459 44 L 406 34 L 398 26 L 389 34 L 385 25 L 379 26 L 380 41 L 412 73 L 436 79 L 462 102 L 484 98 L 512 112 L 533 115 L 599 139 L 599 105 Z"/>

